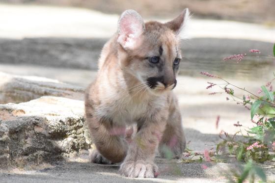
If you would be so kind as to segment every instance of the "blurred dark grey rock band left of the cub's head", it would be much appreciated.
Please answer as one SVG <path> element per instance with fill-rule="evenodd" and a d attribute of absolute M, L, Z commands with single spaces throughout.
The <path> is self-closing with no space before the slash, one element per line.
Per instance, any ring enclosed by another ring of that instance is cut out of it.
<path fill-rule="evenodd" d="M 107 41 L 102 38 L 0 39 L 0 63 L 97 69 L 100 51 Z"/>

